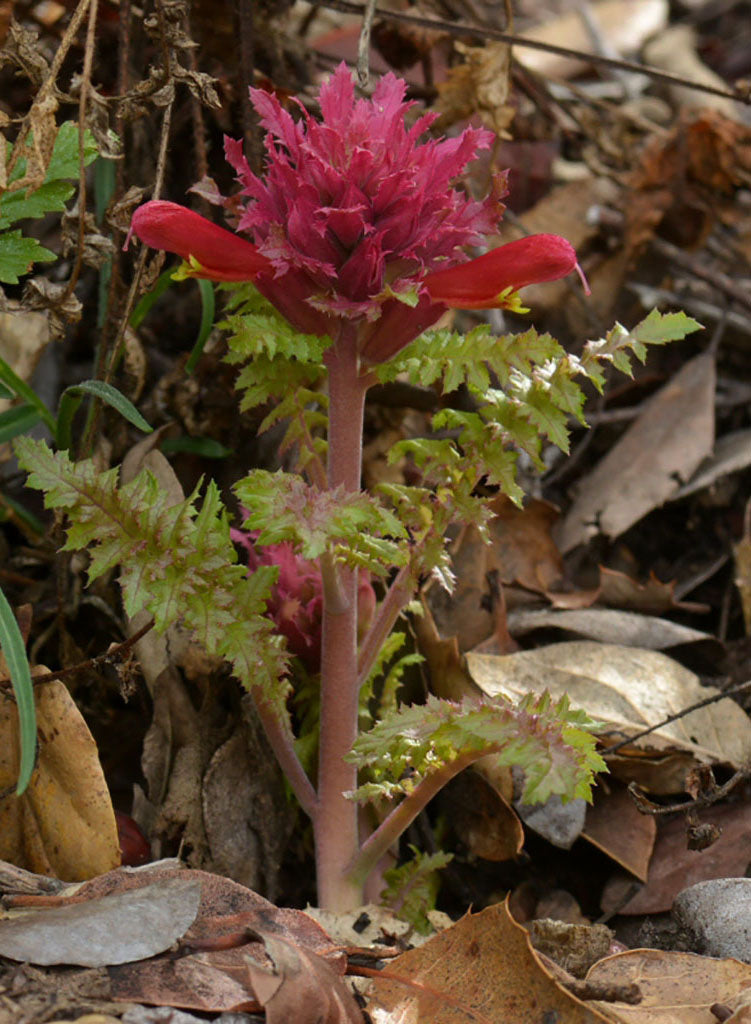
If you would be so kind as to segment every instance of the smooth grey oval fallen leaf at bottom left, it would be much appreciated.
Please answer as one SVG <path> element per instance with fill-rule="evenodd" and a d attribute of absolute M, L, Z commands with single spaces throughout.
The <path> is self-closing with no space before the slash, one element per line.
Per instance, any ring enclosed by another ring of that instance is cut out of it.
<path fill-rule="evenodd" d="M 0 954 L 30 964 L 109 967 L 168 949 L 196 918 L 201 883 L 169 878 L 0 920 Z"/>

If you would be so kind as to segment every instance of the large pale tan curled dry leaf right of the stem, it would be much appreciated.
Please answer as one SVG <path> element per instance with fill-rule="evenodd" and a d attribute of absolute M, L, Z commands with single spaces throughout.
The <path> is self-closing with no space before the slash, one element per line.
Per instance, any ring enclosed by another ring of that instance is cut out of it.
<path fill-rule="evenodd" d="M 550 644 L 537 650 L 492 655 L 468 652 L 469 675 L 484 693 L 517 699 L 548 690 L 565 693 L 606 734 L 627 737 L 655 726 L 700 700 L 717 694 L 699 677 L 658 651 L 586 640 Z M 751 757 L 751 722 L 724 698 L 661 726 L 637 741 L 653 750 L 677 749 L 701 761 L 745 764 Z"/>

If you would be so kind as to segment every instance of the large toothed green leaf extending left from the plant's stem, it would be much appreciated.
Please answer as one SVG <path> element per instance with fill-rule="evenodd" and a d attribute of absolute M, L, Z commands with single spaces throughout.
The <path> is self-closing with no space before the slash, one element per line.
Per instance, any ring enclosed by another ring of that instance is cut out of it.
<path fill-rule="evenodd" d="M 89 579 L 120 566 L 128 615 L 145 609 L 159 632 L 184 623 L 284 718 L 286 655 L 263 614 L 277 570 L 265 566 L 248 575 L 236 564 L 216 485 L 209 483 L 200 507 L 198 488 L 171 504 L 148 470 L 120 487 L 117 469 L 99 472 L 91 460 L 74 463 L 66 452 L 26 437 L 15 446 L 29 486 L 69 517 L 66 550 L 89 549 Z"/>

